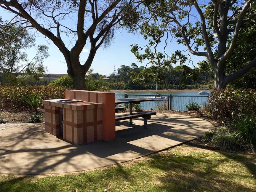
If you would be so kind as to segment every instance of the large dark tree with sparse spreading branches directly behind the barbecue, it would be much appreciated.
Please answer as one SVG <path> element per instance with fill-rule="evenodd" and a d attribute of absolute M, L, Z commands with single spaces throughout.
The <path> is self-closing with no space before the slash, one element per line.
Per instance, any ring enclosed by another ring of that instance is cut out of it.
<path fill-rule="evenodd" d="M 15 14 L 10 23 L 19 23 L 50 39 L 63 54 L 68 75 L 77 89 L 84 89 L 85 74 L 99 47 L 108 47 L 116 27 L 131 30 L 137 23 L 140 2 L 126 0 L 0 0 L 0 6 Z M 131 15 L 133 17 L 131 17 Z M 89 55 L 85 62 L 79 56 L 85 45 Z"/>

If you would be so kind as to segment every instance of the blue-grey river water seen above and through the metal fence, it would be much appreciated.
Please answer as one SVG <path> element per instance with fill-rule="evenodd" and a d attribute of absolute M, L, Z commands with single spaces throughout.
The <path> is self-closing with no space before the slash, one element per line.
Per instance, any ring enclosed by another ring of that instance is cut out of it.
<path fill-rule="evenodd" d="M 152 90 L 151 92 L 148 90 L 145 91 L 119 91 L 113 90 L 115 92 L 116 99 L 124 98 L 124 94 L 128 94 L 128 98 L 145 98 L 147 96 L 144 95 L 156 95 L 156 91 Z M 186 104 L 189 102 L 196 102 L 200 106 L 205 105 L 207 103 L 208 97 L 206 95 L 199 95 L 199 90 L 170 90 L 170 91 L 161 91 L 159 90 L 158 93 L 161 95 L 172 95 L 172 109 L 185 111 Z M 170 102 L 171 103 L 171 102 Z M 148 102 L 141 102 L 140 106 L 144 110 L 161 110 L 161 109 L 168 109 L 170 103 L 168 101 L 148 101 Z"/>

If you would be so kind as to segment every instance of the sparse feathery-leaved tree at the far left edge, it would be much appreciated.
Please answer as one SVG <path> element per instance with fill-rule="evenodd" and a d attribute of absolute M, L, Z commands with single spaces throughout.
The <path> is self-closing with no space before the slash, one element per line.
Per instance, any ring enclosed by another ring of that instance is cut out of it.
<path fill-rule="evenodd" d="M 26 76 L 36 77 L 44 73 L 43 61 L 48 57 L 48 47 L 37 46 L 37 52 L 29 60 L 25 50 L 35 46 L 34 37 L 18 25 L 0 19 L 0 72 L 1 83 L 16 85 Z M 18 78 L 20 76 L 20 78 Z"/>

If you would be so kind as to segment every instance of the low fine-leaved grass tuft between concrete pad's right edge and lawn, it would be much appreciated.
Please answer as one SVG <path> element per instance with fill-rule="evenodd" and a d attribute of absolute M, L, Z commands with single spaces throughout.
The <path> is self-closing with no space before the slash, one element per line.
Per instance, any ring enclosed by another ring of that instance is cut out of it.
<path fill-rule="evenodd" d="M 239 144 L 239 134 L 236 131 L 231 131 L 227 127 L 221 126 L 217 128 L 210 143 L 217 145 L 223 150 L 237 150 Z"/>

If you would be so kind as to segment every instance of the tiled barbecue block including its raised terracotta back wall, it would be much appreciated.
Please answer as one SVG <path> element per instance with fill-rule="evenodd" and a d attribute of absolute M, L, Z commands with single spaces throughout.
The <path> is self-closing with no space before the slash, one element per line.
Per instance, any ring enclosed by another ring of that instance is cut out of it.
<path fill-rule="evenodd" d="M 115 93 L 65 90 L 65 99 L 80 101 L 42 101 L 46 132 L 76 145 L 115 139 Z"/>

